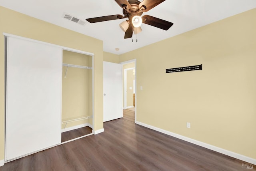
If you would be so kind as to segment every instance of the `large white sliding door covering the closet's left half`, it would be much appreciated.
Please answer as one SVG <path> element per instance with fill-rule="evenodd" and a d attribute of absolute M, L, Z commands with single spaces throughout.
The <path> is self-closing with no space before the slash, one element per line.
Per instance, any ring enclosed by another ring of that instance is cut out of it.
<path fill-rule="evenodd" d="M 8 37 L 6 156 L 12 160 L 61 141 L 62 48 Z"/>

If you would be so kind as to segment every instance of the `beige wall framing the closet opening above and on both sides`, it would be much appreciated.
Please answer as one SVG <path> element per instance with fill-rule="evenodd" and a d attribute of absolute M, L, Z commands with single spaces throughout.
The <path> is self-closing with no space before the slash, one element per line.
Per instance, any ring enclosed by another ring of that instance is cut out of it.
<path fill-rule="evenodd" d="M 15 21 L 15 22 L 14 22 Z M 103 43 L 101 40 L 14 12 L 0 6 L 0 160 L 4 159 L 4 36 L 3 32 L 94 54 L 94 130 L 103 128 Z"/>

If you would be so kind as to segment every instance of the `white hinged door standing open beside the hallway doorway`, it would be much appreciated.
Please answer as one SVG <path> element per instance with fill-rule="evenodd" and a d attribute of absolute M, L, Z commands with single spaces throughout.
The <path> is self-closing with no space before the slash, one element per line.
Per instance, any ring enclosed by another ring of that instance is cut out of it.
<path fill-rule="evenodd" d="M 122 65 L 103 62 L 103 121 L 123 117 Z"/>

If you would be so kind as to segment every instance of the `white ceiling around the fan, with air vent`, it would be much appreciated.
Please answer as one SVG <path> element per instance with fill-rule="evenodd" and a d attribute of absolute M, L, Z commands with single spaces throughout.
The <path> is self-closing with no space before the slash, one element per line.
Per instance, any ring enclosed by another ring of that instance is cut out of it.
<path fill-rule="evenodd" d="M 114 0 L 0 0 L 0 6 L 100 39 L 105 52 L 123 54 L 256 8 L 256 0 L 166 0 L 142 16 L 148 14 L 174 25 L 165 31 L 142 24 L 142 32 L 137 35 L 138 42 L 135 41 L 136 35 L 133 42 L 132 38 L 124 39 L 119 24 L 126 19 L 93 24 L 86 21 L 82 26 L 62 18 L 64 12 L 81 20 L 122 14 L 122 8 Z"/>

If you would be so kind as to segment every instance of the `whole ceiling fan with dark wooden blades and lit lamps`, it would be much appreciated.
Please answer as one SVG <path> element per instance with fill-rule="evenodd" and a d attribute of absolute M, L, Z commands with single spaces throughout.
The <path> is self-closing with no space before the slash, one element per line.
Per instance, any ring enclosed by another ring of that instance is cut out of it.
<path fill-rule="evenodd" d="M 132 34 L 138 34 L 142 31 L 140 28 L 141 24 L 148 24 L 163 30 L 168 30 L 173 23 L 156 18 L 149 15 L 142 15 L 143 12 L 147 12 L 157 6 L 158 4 L 164 2 L 165 0 L 143 0 L 142 2 L 138 0 L 115 0 L 118 5 L 123 8 L 123 15 L 111 15 L 102 16 L 95 18 L 87 18 L 86 20 L 90 23 L 103 22 L 109 20 L 117 20 L 128 18 L 128 20 L 119 24 L 120 28 L 125 32 L 124 38 L 131 38 Z"/>

